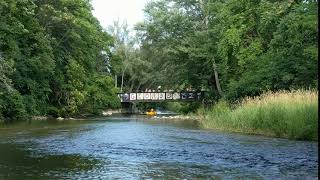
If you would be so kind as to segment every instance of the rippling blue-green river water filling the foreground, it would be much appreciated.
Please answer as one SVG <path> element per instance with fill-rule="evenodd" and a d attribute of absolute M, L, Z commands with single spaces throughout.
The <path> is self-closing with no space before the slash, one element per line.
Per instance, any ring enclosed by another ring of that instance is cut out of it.
<path fill-rule="evenodd" d="M 318 179 L 318 142 L 140 117 L 0 127 L 0 179 Z"/>

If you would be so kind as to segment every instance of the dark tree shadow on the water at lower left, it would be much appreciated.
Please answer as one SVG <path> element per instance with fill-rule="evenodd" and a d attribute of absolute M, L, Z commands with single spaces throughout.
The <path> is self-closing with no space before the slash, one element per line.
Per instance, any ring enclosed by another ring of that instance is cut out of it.
<path fill-rule="evenodd" d="M 100 164 L 97 159 L 78 154 L 33 154 L 25 145 L 12 143 L 0 144 L 0 156 L 0 179 L 68 178 Z"/>

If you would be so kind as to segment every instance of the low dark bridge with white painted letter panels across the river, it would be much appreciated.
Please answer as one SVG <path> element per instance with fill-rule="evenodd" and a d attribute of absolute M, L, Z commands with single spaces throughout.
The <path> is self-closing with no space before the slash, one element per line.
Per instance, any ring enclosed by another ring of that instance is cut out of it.
<path fill-rule="evenodd" d="M 118 93 L 120 101 L 126 102 L 162 102 L 162 101 L 198 101 L 204 96 L 204 91 L 184 92 L 128 92 Z"/>

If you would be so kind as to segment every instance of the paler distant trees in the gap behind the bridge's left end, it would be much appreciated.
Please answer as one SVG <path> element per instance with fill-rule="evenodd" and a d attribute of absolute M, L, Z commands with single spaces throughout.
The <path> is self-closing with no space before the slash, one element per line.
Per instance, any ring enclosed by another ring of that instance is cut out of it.
<path fill-rule="evenodd" d="M 141 58 L 142 52 L 136 48 L 137 41 L 129 34 L 126 22 L 114 22 L 109 32 L 114 38 L 111 72 L 121 78 L 120 91 L 139 91 L 150 81 L 150 63 Z"/>

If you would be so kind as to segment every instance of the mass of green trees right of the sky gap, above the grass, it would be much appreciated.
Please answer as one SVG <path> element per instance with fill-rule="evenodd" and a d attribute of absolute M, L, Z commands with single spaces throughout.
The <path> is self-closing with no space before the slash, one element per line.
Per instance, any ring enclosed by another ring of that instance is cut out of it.
<path fill-rule="evenodd" d="M 317 88 L 317 12 L 313 0 L 150 2 L 136 26 L 141 59 L 152 68 L 143 84 L 191 86 L 232 101 Z"/>

